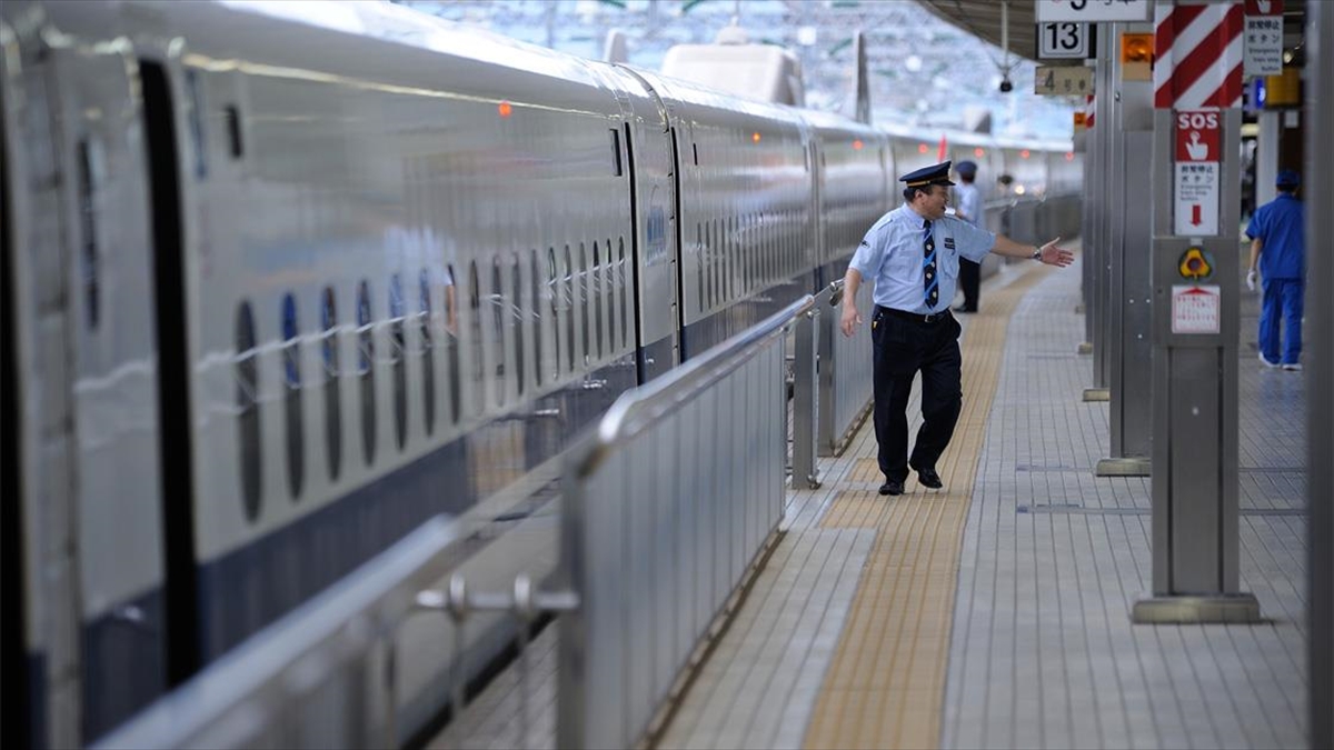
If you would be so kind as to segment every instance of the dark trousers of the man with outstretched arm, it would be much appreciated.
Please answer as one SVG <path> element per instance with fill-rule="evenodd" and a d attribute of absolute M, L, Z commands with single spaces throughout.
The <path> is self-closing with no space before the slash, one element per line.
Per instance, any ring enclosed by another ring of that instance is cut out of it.
<path fill-rule="evenodd" d="M 875 440 L 880 472 L 903 482 L 908 467 L 935 468 L 954 436 L 963 404 L 959 323 L 946 314 L 924 323 L 876 307 L 871 318 L 875 347 Z M 908 458 L 908 394 L 922 372 L 922 428 Z"/>

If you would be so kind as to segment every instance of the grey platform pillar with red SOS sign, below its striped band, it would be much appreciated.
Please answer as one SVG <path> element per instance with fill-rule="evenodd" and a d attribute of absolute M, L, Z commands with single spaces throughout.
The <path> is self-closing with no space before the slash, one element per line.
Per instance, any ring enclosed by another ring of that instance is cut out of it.
<path fill-rule="evenodd" d="M 1135 622 L 1259 619 L 1238 581 L 1241 119 L 1154 109 L 1154 590 Z"/>

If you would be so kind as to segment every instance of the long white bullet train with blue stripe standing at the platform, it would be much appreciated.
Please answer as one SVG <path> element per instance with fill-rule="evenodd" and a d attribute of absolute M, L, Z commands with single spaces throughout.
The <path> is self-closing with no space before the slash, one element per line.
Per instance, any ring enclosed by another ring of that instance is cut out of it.
<path fill-rule="evenodd" d="M 0 9 L 27 746 L 95 741 L 435 514 L 550 495 L 620 392 L 842 276 L 938 159 L 392 5 L 291 9 Z M 948 151 L 1079 187 L 1069 144 Z"/>

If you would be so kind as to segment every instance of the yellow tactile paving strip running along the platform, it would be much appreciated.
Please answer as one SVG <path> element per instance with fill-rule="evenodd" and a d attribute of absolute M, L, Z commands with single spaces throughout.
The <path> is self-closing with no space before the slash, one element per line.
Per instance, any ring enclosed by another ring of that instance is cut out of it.
<path fill-rule="evenodd" d="M 907 494 L 842 491 L 820 526 L 876 528 L 838 653 L 824 675 L 806 747 L 938 747 L 950 655 L 959 544 L 1005 352 L 1006 326 L 1023 294 L 1050 271 L 1030 268 L 987 295 L 968 319 L 963 411 L 936 466 L 946 490 L 907 482 Z M 914 399 L 915 402 L 915 399 Z M 910 423 L 912 415 L 910 414 Z M 867 423 L 866 430 L 874 427 Z M 915 434 L 916 426 L 911 430 Z M 875 442 L 868 442 L 875 450 Z M 883 480 L 860 459 L 848 480 Z"/>

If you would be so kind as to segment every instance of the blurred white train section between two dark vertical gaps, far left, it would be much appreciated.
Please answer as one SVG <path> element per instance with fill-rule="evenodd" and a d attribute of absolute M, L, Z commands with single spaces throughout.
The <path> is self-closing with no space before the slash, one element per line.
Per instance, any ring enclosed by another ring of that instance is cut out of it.
<path fill-rule="evenodd" d="M 93 44 L 92 25 L 63 27 L 77 43 L 59 47 L 21 36 L 5 81 L 23 92 L 7 137 L 32 222 L 7 255 L 24 288 L 9 324 L 31 350 L 15 406 L 31 456 L 25 562 L 41 570 L 28 599 L 37 746 L 85 745 L 168 685 L 140 81 L 129 45 Z"/>

